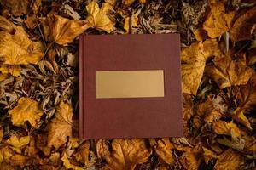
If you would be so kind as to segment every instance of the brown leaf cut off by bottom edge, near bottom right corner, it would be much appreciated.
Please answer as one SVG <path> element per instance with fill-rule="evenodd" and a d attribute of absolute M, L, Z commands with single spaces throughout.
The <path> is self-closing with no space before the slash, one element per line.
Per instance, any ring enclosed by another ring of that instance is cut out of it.
<path fill-rule="evenodd" d="M 214 166 L 218 170 L 234 170 L 239 169 L 243 163 L 243 158 L 234 150 L 225 150 L 222 153 Z"/>

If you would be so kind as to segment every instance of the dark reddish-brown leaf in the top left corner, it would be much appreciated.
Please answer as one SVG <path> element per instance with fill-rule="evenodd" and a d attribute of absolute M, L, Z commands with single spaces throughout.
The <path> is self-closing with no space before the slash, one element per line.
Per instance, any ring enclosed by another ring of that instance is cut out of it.
<path fill-rule="evenodd" d="M 15 16 L 27 14 L 28 6 L 31 3 L 29 0 L 2 0 L 3 6 L 10 9 Z"/>

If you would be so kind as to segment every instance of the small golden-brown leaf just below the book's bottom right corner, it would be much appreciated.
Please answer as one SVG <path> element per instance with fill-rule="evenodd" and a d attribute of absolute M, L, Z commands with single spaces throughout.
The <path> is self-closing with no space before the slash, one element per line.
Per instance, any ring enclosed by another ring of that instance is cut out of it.
<path fill-rule="evenodd" d="M 169 139 L 160 139 L 154 146 L 155 152 L 160 158 L 168 164 L 174 163 L 174 158 L 172 156 L 173 145 Z"/>

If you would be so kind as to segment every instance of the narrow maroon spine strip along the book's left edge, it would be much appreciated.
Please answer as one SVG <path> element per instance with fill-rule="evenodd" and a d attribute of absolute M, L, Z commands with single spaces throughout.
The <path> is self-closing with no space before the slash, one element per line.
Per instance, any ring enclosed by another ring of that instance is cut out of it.
<path fill-rule="evenodd" d="M 84 116 L 83 116 L 83 104 L 84 104 L 84 92 L 83 92 L 83 44 L 84 37 L 79 36 L 79 139 L 84 138 Z"/>

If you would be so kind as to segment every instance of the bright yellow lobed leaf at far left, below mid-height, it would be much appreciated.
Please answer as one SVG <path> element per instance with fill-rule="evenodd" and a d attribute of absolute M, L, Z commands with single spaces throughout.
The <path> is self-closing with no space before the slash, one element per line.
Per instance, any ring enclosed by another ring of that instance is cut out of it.
<path fill-rule="evenodd" d="M 18 101 L 18 105 L 9 111 L 12 116 L 11 121 L 15 126 L 21 126 L 26 121 L 30 122 L 32 127 L 36 127 L 43 111 L 39 108 L 37 101 L 22 97 Z"/>

